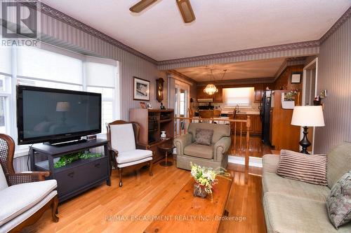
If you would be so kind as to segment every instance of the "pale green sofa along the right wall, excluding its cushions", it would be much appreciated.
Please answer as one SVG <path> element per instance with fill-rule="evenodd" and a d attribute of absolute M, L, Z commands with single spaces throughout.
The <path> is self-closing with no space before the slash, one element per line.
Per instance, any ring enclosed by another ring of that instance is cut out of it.
<path fill-rule="evenodd" d="M 263 156 L 263 209 L 267 232 L 351 232 L 351 223 L 336 230 L 329 221 L 326 198 L 333 185 L 351 170 L 351 143 L 327 153 L 328 185 L 313 185 L 277 175 L 279 155 Z"/>

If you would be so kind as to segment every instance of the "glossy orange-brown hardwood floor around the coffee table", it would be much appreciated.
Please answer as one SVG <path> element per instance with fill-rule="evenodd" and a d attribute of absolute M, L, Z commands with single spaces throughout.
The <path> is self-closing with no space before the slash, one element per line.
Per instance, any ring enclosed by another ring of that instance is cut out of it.
<path fill-rule="evenodd" d="M 262 157 L 271 153 L 258 137 L 252 137 L 251 156 Z M 265 233 L 265 220 L 261 204 L 262 170 L 228 164 L 227 170 L 234 176 L 232 189 L 226 204 L 229 216 L 235 220 L 223 220 L 218 232 Z M 51 211 L 46 211 L 34 225 L 24 232 L 143 232 L 171 202 L 181 188 L 190 181 L 190 172 L 154 164 L 153 176 L 148 169 L 126 171 L 124 185 L 119 188 L 118 172 L 112 171 L 112 186 L 102 184 L 78 197 L 69 199 L 58 207 L 60 221 L 51 221 Z M 245 183 L 245 181 L 247 181 Z M 148 219 L 131 220 L 132 217 Z"/>

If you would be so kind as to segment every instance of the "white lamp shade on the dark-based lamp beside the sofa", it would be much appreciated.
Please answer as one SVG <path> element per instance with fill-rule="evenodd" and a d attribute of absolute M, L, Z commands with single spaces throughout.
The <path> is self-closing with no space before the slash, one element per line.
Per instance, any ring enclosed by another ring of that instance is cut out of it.
<path fill-rule="evenodd" d="M 324 126 L 322 106 L 295 106 L 291 125 L 318 127 Z"/>

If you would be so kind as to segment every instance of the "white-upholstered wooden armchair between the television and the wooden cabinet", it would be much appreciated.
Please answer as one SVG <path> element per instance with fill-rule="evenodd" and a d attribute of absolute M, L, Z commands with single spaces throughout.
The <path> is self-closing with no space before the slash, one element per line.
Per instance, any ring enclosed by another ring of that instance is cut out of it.
<path fill-rule="evenodd" d="M 115 120 L 107 124 L 107 137 L 111 164 L 119 171 L 119 187 L 122 186 L 122 171 L 124 167 L 143 167 L 149 164 L 152 176 L 152 150 L 138 143 L 139 125 L 137 122 Z"/>

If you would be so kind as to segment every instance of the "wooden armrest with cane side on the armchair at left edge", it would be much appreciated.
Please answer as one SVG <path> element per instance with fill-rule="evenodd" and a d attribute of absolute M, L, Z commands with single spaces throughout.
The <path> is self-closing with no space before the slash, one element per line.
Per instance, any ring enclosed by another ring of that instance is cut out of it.
<path fill-rule="evenodd" d="M 50 171 L 23 171 L 8 176 L 10 185 L 18 185 L 20 183 L 30 183 L 37 181 L 45 181 L 50 176 Z"/>

